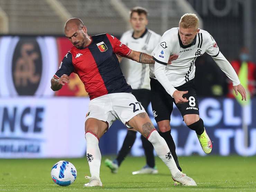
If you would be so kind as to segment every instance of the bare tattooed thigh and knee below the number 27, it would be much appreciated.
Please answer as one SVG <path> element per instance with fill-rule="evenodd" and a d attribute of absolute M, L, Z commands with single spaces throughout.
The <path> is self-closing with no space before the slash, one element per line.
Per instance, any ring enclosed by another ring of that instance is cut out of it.
<path fill-rule="evenodd" d="M 132 117 L 128 121 L 128 125 L 136 129 L 138 132 L 141 133 L 141 135 L 143 135 L 146 138 L 153 130 L 155 130 L 155 127 L 147 113 L 140 113 Z"/>

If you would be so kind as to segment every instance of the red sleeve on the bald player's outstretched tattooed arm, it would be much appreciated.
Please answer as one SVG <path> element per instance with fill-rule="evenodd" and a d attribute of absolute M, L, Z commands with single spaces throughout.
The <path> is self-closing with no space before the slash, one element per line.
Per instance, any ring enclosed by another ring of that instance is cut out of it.
<path fill-rule="evenodd" d="M 122 44 L 121 41 L 119 41 L 119 39 L 112 35 L 109 35 L 108 33 L 106 33 L 106 35 L 110 41 L 114 53 L 120 56 L 126 56 L 130 54 L 131 49 L 127 47 L 125 44 Z"/>

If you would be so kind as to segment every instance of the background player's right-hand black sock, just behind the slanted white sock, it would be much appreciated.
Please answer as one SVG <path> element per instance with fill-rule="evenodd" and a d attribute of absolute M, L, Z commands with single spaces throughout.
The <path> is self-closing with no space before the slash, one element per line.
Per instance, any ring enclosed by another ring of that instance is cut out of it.
<path fill-rule="evenodd" d="M 154 151 L 153 151 L 154 147 L 153 147 L 152 143 L 150 143 L 144 136 L 141 135 L 140 138 L 142 141 L 142 147 L 145 152 L 147 165 L 149 167 L 154 168 L 154 166 L 155 166 L 155 156 L 154 156 Z"/>

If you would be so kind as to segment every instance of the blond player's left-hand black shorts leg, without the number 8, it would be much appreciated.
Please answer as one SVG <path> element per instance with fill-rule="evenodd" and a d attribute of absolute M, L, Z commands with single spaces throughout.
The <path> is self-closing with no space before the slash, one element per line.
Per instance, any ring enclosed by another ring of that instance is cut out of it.
<path fill-rule="evenodd" d="M 173 98 L 169 95 L 158 80 L 150 78 L 151 105 L 156 122 L 171 120 Z"/>

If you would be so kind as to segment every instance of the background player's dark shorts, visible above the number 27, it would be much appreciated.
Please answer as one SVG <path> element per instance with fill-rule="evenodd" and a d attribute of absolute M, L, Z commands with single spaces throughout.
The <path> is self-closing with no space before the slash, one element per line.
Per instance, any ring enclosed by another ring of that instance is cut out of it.
<path fill-rule="evenodd" d="M 133 89 L 132 95 L 135 96 L 138 102 L 144 107 L 147 112 L 148 105 L 151 100 L 151 92 L 148 89 Z"/>

